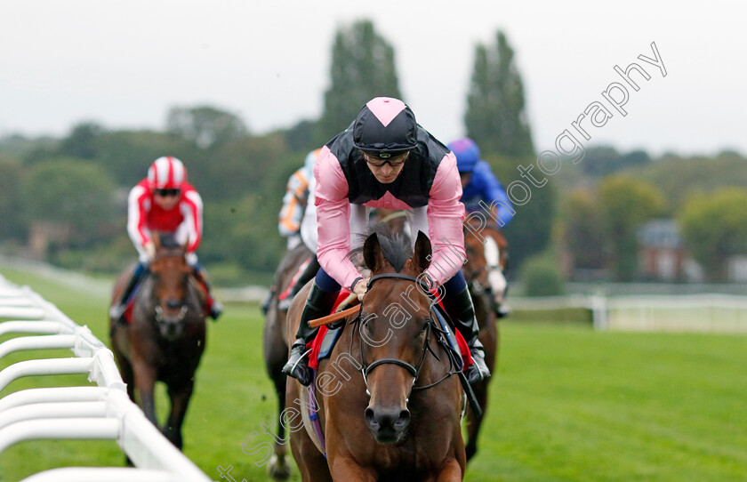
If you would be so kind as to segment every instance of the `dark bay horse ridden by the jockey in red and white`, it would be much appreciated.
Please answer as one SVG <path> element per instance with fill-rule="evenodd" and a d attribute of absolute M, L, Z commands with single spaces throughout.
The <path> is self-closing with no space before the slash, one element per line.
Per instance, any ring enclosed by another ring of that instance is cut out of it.
<path fill-rule="evenodd" d="M 134 293 L 132 320 L 127 325 L 109 320 L 111 345 L 127 394 L 156 426 L 154 387 L 166 384 L 171 412 L 161 431 L 181 449 L 181 424 L 205 350 L 205 293 L 191 276 L 186 244 L 157 233 L 153 239 L 156 256 Z M 120 300 L 133 269 L 117 278 L 112 304 Z"/>

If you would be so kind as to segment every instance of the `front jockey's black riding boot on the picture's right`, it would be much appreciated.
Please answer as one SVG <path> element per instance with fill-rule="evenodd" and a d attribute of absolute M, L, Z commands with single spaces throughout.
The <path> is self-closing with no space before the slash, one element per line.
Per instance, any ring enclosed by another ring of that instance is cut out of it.
<path fill-rule="evenodd" d="M 479 341 L 480 328 L 478 319 L 475 317 L 475 307 L 472 304 L 469 288 L 464 288 L 462 293 L 445 296 L 443 302 L 446 313 L 452 318 L 456 329 L 462 333 L 470 347 L 470 355 L 474 363 L 467 371 L 467 380 L 474 383 L 489 378 L 490 370 L 485 364 L 485 349 Z"/>

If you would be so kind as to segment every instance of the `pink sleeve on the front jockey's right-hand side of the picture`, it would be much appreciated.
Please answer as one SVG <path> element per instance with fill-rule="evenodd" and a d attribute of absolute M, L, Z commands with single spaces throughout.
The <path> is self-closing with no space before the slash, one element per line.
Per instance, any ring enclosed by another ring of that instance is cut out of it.
<path fill-rule="evenodd" d="M 425 272 L 438 285 L 453 277 L 467 259 L 464 252 L 464 205 L 462 181 L 456 169 L 456 157 L 449 152 L 438 165 L 428 202 L 428 227 L 433 257 Z"/>

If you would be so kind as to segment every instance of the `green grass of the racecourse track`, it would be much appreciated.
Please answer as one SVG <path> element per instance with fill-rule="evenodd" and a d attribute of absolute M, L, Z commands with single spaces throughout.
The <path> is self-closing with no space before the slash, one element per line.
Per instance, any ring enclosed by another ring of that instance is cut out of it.
<path fill-rule="evenodd" d="M 2 274 L 31 285 L 108 342 L 106 298 L 17 271 Z M 598 333 L 541 321 L 502 322 L 501 336 L 492 403 L 466 480 L 747 480 L 747 337 Z M 8 357 L 0 367 L 25 357 Z M 58 380 L 20 380 L 0 395 Z M 163 391 L 159 408 L 165 414 Z M 255 465 L 261 454 L 245 454 L 241 446 L 253 431 L 260 437 L 250 446 L 269 441 L 261 424 L 272 423 L 274 414 L 259 310 L 229 305 L 209 326 L 184 427 L 185 454 L 216 480 L 219 465 L 233 465 L 237 480 L 268 480 Z M 122 459 L 114 443 L 24 442 L 0 454 L 0 480 Z"/>

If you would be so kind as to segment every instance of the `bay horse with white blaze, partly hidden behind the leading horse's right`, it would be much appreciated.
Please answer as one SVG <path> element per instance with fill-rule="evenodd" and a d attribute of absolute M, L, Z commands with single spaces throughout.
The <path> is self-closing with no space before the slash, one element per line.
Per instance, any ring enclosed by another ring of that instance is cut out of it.
<path fill-rule="evenodd" d="M 477 222 L 471 224 L 469 228 L 465 226 L 464 249 L 467 261 L 462 266 L 462 272 L 475 304 L 475 316 L 480 326 L 480 341 L 485 348 L 485 363 L 491 374 L 494 374 L 495 361 L 498 357 L 499 333 L 496 312 L 505 295 L 505 285 L 501 288 L 494 277 L 497 270 L 502 273 L 507 266 L 508 247 L 506 238 L 500 230 L 494 227 L 478 226 Z M 493 285 L 499 285 L 500 293 L 494 293 L 496 289 Z M 472 384 L 472 390 L 484 413 L 487 409 L 489 384 L 493 378 Z M 468 462 L 478 452 L 478 435 L 483 418 L 484 416 L 478 418 L 471 410 L 467 415 L 465 450 Z"/>

